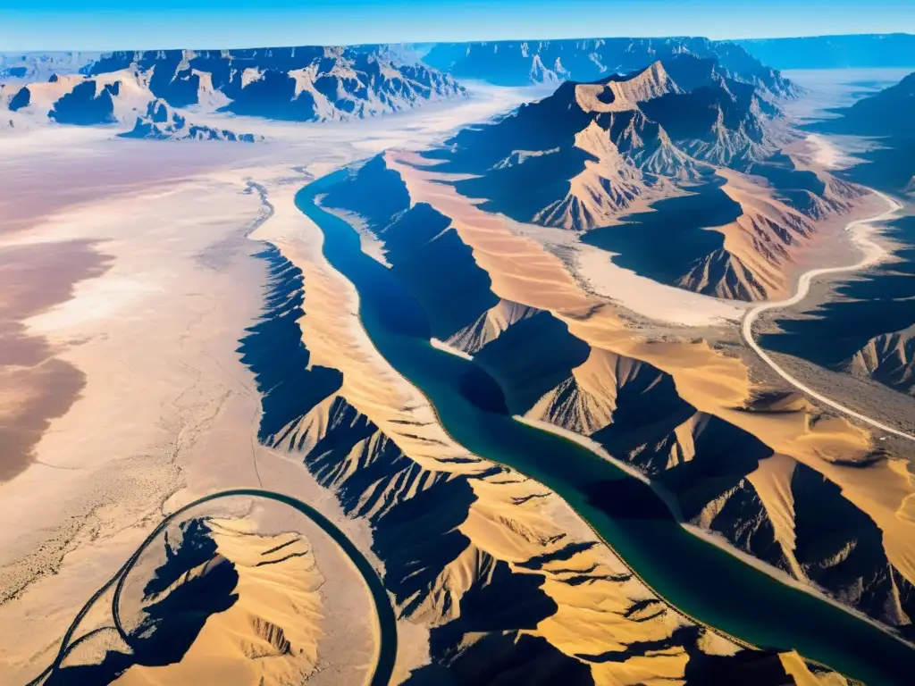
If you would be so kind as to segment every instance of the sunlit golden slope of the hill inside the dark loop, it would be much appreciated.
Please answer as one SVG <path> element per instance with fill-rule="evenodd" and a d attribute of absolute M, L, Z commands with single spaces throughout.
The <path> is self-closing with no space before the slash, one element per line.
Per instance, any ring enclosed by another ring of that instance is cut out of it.
<path fill-rule="evenodd" d="M 232 590 L 238 599 L 207 619 L 180 662 L 134 666 L 114 683 L 285 686 L 305 681 L 314 670 L 323 577 L 308 542 L 297 533 L 258 535 L 244 520 L 208 520 L 208 525 L 216 555 L 179 583 L 231 564 L 238 573 Z"/>

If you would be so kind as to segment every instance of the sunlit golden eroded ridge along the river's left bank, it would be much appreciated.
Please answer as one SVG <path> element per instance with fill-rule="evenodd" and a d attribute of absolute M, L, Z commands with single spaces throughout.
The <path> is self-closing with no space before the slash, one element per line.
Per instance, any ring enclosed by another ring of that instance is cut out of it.
<path fill-rule="evenodd" d="M 278 215 L 286 209 L 297 211 L 285 207 L 285 203 L 291 205 L 291 197 L 276 198 L 275 203 Z M 354 414 L 344 412 L 351 407 L 377 428 L 353 446 L 328 473 L 326 483 L 345 488 L 348 498 L 358 496 L 361 505 L 354 507 L 364 516 L 383 517 L 443 483 L 464 484 L 462 488 L 472 492 L 463 505 L 466 515 L 456 525 L 466 544 L 441 567 L 436 566 L 438 555 L 428 546 L 437 550 L 443 543 L 425 536 L 416 541 L 410 531 L 422 534 L 426 526 L 435 524 L 427 519 L 460 514 L 460 509 L 454 509 L 458 505 L 442 503 L 447 509 L 439 511 L 436 503 L 429 503 L 411 521 L 410 530 L 397 534 L 396 547 L 406 546 L 416 561 L 411 575 L 428 579 L 415 588 L 411 585 L 414 590 L 398 599 L 401 612 L 427 626 L 444 625 L 460 616 L 460 601 L 470 589 L 480 592 L 504 583 L 500 579 L 508 571 L 514 579 L 511 584 L 524 584 L 522 580 L 528 577 L 540 586 L 535 595 L 543 592 L 558 606 L 535 627 L 523 629 L 522 635 L 545 638 L 566 659 L 584 662 L 597 683 L 682 682 L 686 645 L 676 640 L 663 650 L 635 650 L 625 657 L 622 653 L 642 642 L 651 645 L 652 641 L 669 640 L 678 627 L 690 623 L 659 603 L 619 558 L 597 544 L 587 525 L 554 493 L 511 470 L 494 468 L 454 442 L 437 422 L 425 396 L 397 375 L 372 347 L 361 328 L 351 284 L 324 261 L 317 227 L 299 217 L 296 229 L 284 230 L 268 221 L 257 237 L 274 241 L 302 269 L 307 288 L 306 314 L 300 326 L 310 364 L 340 370 L 343 384 L 293 422 L 278 447 L 309 454 L 340 422 L 355 421 Z M 374 472 L 385 476 L 372 483 L 360 481 L 371 473 L 373 464 L 385 459 L 393 460 L 391 466 Z M 354 488 L 361 491 L 354 492 Z M 384 535 L 384 520 L 377 526 L 376 539 Z M 416 546 L 426 548 L 416 550 Z M 391 570 L 393 573 L 393 567 Z M 388 577 L 385 581 L 398 583 Z M 483 646 L 492 638 L 488 634 L 466 635 L 464 648 Z M 737 649 L 724 639 L 711 643 L 725 653 Z M 620 653 L 619 660 L 587 659 L 614 652 Z"/>

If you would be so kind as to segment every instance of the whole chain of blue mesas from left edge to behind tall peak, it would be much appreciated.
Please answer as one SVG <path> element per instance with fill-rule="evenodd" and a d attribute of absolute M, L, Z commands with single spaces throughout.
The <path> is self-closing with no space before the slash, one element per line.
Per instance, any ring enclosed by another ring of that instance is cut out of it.
<path fill-rule="evenodd" d="M 7 53 L 0 55 L 0 107 L 16 114 L 0 121 L 25 128 L 46 119 L 133 126 L 155 102 L 178 111 L 341 121 L 463 97 L 467 91 L 456 79 L 498 85 L 587 81 L 678 56 L 705 59 L 705 70 L 714 69 L 716 79 L 752 85 L 763 99 L 797 92 L 744 48 L 705 38 Z"/>

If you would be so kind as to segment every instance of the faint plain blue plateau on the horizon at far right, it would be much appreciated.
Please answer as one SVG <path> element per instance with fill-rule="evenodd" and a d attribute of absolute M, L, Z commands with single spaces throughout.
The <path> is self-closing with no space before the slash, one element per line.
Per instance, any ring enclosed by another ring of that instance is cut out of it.
<path fill-rule="evenodd" d="M 906 33 L 735 40 L 778 70 L 915 68 L 915 36 Z"/>

